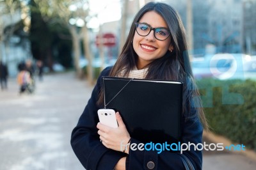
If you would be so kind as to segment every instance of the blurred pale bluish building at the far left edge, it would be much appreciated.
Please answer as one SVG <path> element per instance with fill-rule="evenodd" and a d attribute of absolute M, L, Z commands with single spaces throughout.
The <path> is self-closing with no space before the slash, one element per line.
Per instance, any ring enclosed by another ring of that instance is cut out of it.
<path fill-rule="evenodd" d="M 0 4 L 0 9 L 5 8 Z M 8 66 L 10 77 L 15 77 L 19 72 L 17 65 L 20 61 L 31 58 L 30 42 L 27 38 L 22 38 L 14 34 L 15 25 L 20 22 L 20 10 L 14 13 L 0 12 L 0 60 Z"/>

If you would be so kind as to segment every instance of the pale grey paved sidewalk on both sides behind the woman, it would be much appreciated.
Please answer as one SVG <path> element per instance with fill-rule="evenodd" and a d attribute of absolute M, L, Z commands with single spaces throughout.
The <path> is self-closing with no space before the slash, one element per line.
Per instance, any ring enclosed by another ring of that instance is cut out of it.
<path fill-rule="evenodd" d="M 74 73 L 45 75 L 33 95 L 18 95 L 10 79 L 0 91 L 1 170 L 82 170 L 70 134 L 93 87 Z M 209 141 L 208 141 L 209 142 Z M 256 161 L 227 151 L 204 153 L 204 169 L 255 169 Z M 162 170 L 162 169 L 161 169 Z"/>

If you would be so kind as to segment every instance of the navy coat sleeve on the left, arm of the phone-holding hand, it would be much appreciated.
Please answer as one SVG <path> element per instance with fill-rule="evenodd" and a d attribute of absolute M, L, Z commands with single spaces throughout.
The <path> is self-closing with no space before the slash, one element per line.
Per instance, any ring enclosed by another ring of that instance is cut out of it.
<path fill-rule="evenodd" d="M 100 74 L 97 84 L 92 91 L 92 97 L 88 100 L 88 104 L 71 135 L 72 149 L 87 170 L 112 170 L 118 160 L 125 157 L 124 153 L 106 148 L 100 143 L 99 135 L 97 134 L 98 129 L 96 126 L 99 122 L 97 110 L 99 107 L 96 103 L 102 86 L 101 77 L 102 75 L 108 75 L 110 69 L 106 68 Z"/>

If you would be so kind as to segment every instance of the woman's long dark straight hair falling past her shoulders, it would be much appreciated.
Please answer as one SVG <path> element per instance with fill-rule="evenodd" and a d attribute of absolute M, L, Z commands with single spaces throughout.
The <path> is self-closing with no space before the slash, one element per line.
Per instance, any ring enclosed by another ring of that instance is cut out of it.
<path fill-rule="evenodd" d="M 136 66 L 138 55 L 134 51 L 131 43 L 136 29 L 134 22 L 139 22 L 145 13 L 151 11 L 158 13 L 165 20 L 168 28 L 170 29 L 173 50 L 172 52 L 168 50 L 162 58 L 155 59 L 148 65 L 148 73 L 145 79 L 163 79 L 184 82 L 183 114 L 186 118 L 191 118 L 193 115 L 195 116 L 195 114 L 191 114 L 191 112 L 193 112 L 192 109 L 195 106 L 198 117 L 202 121 L 204 127 L 207 128 L 204 110 L 202 109 L 201 100 L 198 98 L 199 93 L 196 89 L 196 84 L 191 70 L 185 29 L 179 14 L 172 8 L 172 6 L 164 3 L 150 2 L 141 8 L 134 17 L 122 52 L 109 75 L 117 76 L 122 70 L 124 70 L 125 77 Z M 100 100 L 102 101 L 102 95 L 103 94 L 100 93 L 99 102 Z"/>

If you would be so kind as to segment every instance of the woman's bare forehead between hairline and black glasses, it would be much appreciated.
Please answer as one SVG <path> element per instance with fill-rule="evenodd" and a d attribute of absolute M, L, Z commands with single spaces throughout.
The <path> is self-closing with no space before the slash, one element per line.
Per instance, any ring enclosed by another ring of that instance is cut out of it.
<path fill-rule="evenodd" d="M 168 27 L 163 17 L 154 11 L 145 13 L 139 22 L 145 22 L 152 27 Z"/>

